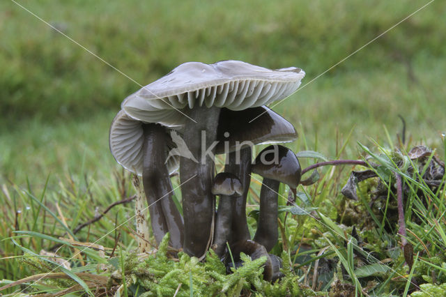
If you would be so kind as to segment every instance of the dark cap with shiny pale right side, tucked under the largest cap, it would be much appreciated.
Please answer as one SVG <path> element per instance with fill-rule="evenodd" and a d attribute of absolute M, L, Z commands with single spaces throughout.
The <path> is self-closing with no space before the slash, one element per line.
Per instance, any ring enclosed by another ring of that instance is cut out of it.
<path fill-rule="evenodd" d="M 256 117 L 259 116 L 259 119 Z M 253 119 L 256 119 L 252 121 Z M 273 112 L 268 107 L 252 107 L 241 111 L 222 109 L 217 128 L 215 152 L 230 153 L 240 149 L 242 142 L 273 144 L 292 142 L 298 133 L 289 121 Z M 227 143 L 225 143 L 227 142 Z M 226 147 L 229 151 L 225 151 Z"/>

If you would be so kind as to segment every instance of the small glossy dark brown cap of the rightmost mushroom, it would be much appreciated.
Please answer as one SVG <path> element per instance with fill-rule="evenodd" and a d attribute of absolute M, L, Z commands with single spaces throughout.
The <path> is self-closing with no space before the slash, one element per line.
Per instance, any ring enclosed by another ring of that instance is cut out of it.
<path fill-rule="evenodd" d="M 263 178 L 286 183 L 290 188 L 297 188 L 302 169 L 293 151 L 285 146 L 273 144 L 257 155 L 252 172 Z"/>

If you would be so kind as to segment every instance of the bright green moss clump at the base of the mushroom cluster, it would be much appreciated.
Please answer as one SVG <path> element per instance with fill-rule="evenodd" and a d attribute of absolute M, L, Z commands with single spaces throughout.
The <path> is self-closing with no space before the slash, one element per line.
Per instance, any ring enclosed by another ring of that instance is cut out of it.
<path fill-rule="evenodd" d="M 123 261 L 112 261 L 109 289 L 121 286 L 124 275 L 128 293 L 143 297 L 190 296 L 191 292 L 194 296 L 240 296 L 249 291 L 256 296 L 316 295 L 311 289 L 300 287 L 299 276 L 291 269 L 286 252 L 282 254 L 285 276 L 272 284 L 263 280 L 266 257 L 252 260 L 240 254 L 243 266 L 231 268 L 232 273 L 226 275 L 224 264 L 213 250 L 208 252 L 204 262 L 183 252 L 178 254 L 178 259 L 172 259 L 168 243 L 169 234 L 163 238 L 157 252 L 143 261 L 139 261 L 136 254 L 126 254 Z"/>

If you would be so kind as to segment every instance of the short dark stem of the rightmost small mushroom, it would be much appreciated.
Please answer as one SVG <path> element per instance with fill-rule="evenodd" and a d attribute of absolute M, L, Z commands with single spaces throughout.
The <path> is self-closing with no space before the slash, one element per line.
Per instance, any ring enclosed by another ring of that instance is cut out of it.
<path fill-rule="evenodd" d="M 263 245 L 269 252 L 277 243 L 279 232 L 277 231 L 277 192 L 279 181 L 263 178 L 260 190 L 260 214 L 257 223 L 254 241 Z"/>

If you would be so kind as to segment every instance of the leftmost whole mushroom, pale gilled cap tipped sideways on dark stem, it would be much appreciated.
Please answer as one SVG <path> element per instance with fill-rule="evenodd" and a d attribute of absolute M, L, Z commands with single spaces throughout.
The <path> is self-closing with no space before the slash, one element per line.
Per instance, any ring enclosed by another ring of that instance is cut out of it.
<path fill-rule="evenodd" d="M 154 123 L 135 121 L 121 110 L 110 128 L 109 146 L 119 164 L 142 175 L 157 243 L 170 232 L 171 246 L 181 248 L 183 218 L 171 199 L 173 190 L 169 178 L 169 173 L 178 169 L 178 160 L 176 157 L 168 158 L 167 165 L 164 165 L 167 152 L 174 147 L 166 129 Z"/>

